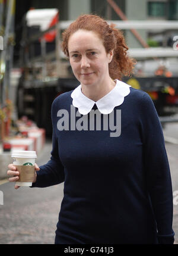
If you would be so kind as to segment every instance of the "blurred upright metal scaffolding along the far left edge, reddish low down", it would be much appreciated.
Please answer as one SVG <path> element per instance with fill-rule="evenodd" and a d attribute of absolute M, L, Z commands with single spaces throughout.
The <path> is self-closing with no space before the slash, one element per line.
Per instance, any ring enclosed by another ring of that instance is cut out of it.
<path fill-rule="evenodd" d="M 15 0 L 0 0 L 0 142 L 9 135 L 12 105 L 9 99 L 14 51 Z"/>

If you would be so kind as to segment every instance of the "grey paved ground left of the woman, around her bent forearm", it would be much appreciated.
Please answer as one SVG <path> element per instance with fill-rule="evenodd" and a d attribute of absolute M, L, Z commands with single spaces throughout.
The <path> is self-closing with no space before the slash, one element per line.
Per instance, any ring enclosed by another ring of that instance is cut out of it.
<path fill-rule="evenodd" d="M 36 163 L 50 158 L 52 143 L 47 141 Z M 55 241 L 56 223 L 63 197 L 63 183 L 48 188 L 14 189 L 14 183 L 0 185 L 4 205 L 0 205 L 0 243 L 50 244 Z"/>

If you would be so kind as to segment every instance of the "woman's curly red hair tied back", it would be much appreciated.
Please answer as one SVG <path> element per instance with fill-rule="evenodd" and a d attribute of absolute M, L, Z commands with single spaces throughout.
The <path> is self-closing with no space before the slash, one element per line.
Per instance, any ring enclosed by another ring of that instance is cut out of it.
<path fill-rule="evenodd" d="M 122 79 L 123 76 L 131 76 L 136 61 L 127 54 L 128 46 L 121 30 L 115 28 L 115 24 L 108 24 L 106 20 L 95 14 L 80 15 L 62 33 L 62 48 L 69 57 L 68 40 L 77 30 L 89 30 L 97 33 L 103 40 L 104 48 L 109 53 L 114 49 L 112 61 L 109 63 L 109 74 L 112 79 Z"/>

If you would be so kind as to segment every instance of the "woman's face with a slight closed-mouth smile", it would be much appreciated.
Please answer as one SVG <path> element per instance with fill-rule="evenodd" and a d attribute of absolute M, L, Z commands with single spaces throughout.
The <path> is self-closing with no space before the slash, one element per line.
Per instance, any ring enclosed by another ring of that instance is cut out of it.
<path fill-rule="evenodd" d="M 68 41 L 69 60 L 81 85 L 97 85 L 109 78 L 108 64 L 113 51 L 106 53 L 102 40 L 93 31 L 77 30 Z"/>

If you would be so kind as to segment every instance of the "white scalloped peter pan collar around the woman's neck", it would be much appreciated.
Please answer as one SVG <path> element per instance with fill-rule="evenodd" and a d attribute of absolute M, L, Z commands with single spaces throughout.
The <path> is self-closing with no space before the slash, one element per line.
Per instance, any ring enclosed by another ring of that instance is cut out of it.
<path fill-rule="evenodd" d="M 124 82 L 115 80 L 116 86 L 110 90 L 109 93 L 103 96 L 98 101 L 93 101 L 85 96 L 81 91 L 81 85 L 77 86 L 71 93 L 73 99 L 72 105 L 78 108 L 78 111 L 82 115 L 88 114 L 93 108 L 94 104 L 97 105 L 98 110 L 101 114 L 110 114 L 116 106 L 123 103 L 124 97 L 130 93 L 130 85 Z"/>

